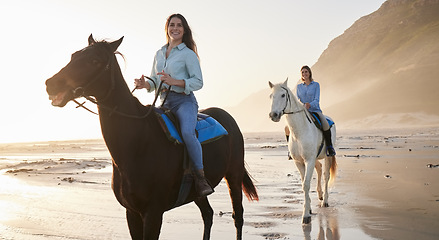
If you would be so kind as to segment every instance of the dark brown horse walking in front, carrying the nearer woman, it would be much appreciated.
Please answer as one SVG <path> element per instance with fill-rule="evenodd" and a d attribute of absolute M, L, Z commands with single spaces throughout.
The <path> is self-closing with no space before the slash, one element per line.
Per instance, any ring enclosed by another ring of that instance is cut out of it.
<path fill-rule="evenodd" d="M 95 101 L 102 135 L 113 158 L 112 188 L 126 208 L 133 239 L 158 239 L 163 213 L 174 208 L 183 178 L 184 146 L 170 142 L 151 106 L 135 98 L 120 71 L 115 53 L 122 42 L 96 42 L 75 52 L 71 61 L 46 81 L 52 105 L 64 107 L 77 97 Z M 203 144 L 206 177 L 217 186 L 227 180 L 233 206 L 236 238 L 242 238 L 242 191 L 258 200 L 253 182 L 244 167 L 244 141 L 235 120 L 226 111 L 202 111 L 217 119 L 228 135 Z M 196 198 L 193 190 L 185 203 L 194 201 L 204 221 L 203 239 L 210 238 L 213 209 L 207 198 Z"/>

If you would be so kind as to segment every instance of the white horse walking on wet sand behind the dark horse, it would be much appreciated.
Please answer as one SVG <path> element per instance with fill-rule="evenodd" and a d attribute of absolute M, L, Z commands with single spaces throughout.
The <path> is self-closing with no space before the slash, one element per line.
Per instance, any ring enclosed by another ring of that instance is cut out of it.
<path fill-rule="evenodd" d="M 284 83 L 272 84 L 271 87 L 271 112 L 270 118 L 274 122 L 279 122 L 283 115 L 286 115 L 290 137 L 288 150 L 294 159 L 294 163 L 302 178 L 302 189 L 305 193 L 305 203 L 303 206 L 302 223 L 311 222 L 311 199 L 309 189 L 314 167 L 317 171 L 317 192 L 321 200 L 321 207 L 328 207 L 328 185 L 335 180 L 337 163 L 335 156 L 326 156 L 326 145 L 323 134 L 312 122 L 311 114 L 305 109 L 295 95 L 288 88 L 288 78 Z M 335 143 L 335 125 L 331 127 L 332 142 Z M 325 158 L 324 169 L 324 192 L 321 189 L 322 164 L 317 160 Z"/>

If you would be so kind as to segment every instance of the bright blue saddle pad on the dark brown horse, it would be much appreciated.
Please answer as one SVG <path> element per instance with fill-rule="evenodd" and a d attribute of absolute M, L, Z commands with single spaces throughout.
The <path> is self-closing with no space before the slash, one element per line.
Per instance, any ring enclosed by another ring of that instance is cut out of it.
<path fill-rule="evenodd" d="M 169 113 L 159 108 L 155 108 L 155 111 L 169 140 L 183 144 L 179 130 L 168 116 Z M 217 120 L 203 113 L 198 113 L 198 122 L 195 131 L 197 132 L 198 141 L 202 144 L 215 141 L 228 134 L 227 130 Z"/>

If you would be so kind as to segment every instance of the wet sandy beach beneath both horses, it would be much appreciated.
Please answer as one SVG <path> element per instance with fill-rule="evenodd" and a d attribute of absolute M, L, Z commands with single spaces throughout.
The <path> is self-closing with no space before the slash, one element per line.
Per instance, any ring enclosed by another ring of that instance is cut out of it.
<path fill-rule="evenodd" d="M 329 208 L 302 226 L 300 175 L 285 136 L 245 134 L 260 201 L 244 199 L 244 239 L 438 239 L 439 129 L 340 130 Z M 0 239 L 130 239 L 102 140 L 0 144 Z M 234 239 L 225 182 L 209 197 L 213 240 Z M 201 239 L 195 204 L 164 215 L 160 239 Z"/>

